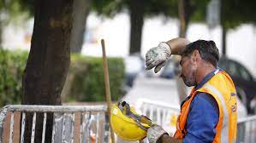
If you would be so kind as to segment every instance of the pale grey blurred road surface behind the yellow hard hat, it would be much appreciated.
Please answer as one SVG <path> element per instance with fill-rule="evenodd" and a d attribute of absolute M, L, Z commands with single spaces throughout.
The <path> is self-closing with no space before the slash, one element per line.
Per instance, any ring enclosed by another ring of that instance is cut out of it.
<path fill-rule="evenodd" d="M 135 106 L 141 99 L 179 106 L 176 81 L 159 77 L 137 77 L 134 81 L 134 87 L 125 95 L 123 100 Z"/>

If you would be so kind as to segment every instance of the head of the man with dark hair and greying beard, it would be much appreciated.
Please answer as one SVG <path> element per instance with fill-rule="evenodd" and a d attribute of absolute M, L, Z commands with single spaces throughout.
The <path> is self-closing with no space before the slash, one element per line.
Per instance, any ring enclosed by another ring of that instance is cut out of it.
<path fill-rule="evenodd" d="M 189 43 L 182 50 L 181 77 L 188 86 L 195 86 L 199 83 L 200 77 L 209 69 L 217 67 L 219 52 L 213 41 L 198 40 Z M 208 71 L 209 71 L 208 70 Z"/>

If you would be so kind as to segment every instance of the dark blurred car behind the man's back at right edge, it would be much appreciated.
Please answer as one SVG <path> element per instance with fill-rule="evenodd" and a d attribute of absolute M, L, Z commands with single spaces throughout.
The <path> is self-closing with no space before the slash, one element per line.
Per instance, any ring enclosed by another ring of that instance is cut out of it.
<path fill-rule="evenodd" d="M 256 99 L 256 80 L 253 75 L 241 63 L 227 57 L 222 57 L 218 62 L 218 66 L 229 73 L 235 83 L 238 97 L 247 107 L 247 112 L 250 114 L 256 113 L 256 106 L 253 104 L 253 100 Z"/>

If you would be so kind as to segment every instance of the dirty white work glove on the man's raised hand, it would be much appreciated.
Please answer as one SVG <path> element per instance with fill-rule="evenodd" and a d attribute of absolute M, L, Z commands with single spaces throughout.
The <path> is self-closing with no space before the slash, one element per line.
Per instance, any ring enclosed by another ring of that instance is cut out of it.
<path fill-rule="evenodd" d="M 156 67 L 154 72 L 159 72 L 170 58 L 170 54 L 170 46 L 167 43 L 159 43 L 158 47 L 149 49 L 146 52 L 146 70 Z"/>

